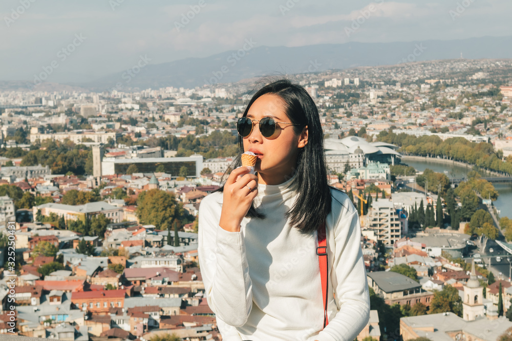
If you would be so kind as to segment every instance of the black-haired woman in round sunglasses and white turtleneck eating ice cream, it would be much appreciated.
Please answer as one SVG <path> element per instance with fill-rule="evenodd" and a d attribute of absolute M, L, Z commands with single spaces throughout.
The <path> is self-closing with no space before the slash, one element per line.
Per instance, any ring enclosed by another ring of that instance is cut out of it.
<path fill-rule="evenodd" d="M 199 263 L 219 331 L 225 340 L 352 341 L 370 314 L 360 225 L 327 183 L 315 103 L 302 86 L 275 81 L 254 94 L 238 131 L 241 153 L 258 155 L 257 175 L 234 169 L 199 209 Z M 327 319 L 316 253 L 324 222 Z"/>

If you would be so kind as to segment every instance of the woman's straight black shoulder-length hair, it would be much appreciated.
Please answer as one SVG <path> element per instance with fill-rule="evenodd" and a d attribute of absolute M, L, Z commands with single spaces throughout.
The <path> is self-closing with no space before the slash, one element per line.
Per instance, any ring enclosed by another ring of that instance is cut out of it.
<path fill-rule="evenodd" d="M 285 105 L 286 116 L 293 126 L 296 134 L 308 127 L 308 143 L 298 152 L 297 164 L 293 168 L 294 181 L 298 188 L 298 195 L 293 207 L 286 213 L 290 224 L 303 233 L 316 231 L 331 211 L 331 194 L 327 182 L 327 167 L 324 154 L 324 133 L 318 115 L 318 109 L 311 96 L 304 87 L 292 84 L 287 79 L 280 79 L 263 86 L 250 99 L 244 111 L 244 117 L 252 103 L 259 97 L 271 94 L 279 96 Z M 230 169 L 242 165 L 241 155 L 244 152 L 243 138 L 239 135 L 240 151 Z M 218 191 L 223 191 L 224 186 Z M 246 217 L 265 218 L 262 212 L 251 204 Z"/>

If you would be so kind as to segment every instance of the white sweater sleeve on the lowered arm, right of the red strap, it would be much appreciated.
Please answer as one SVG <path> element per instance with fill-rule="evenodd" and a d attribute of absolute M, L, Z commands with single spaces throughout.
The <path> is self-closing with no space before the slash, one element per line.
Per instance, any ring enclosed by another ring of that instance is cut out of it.
<path fill-rule="evenodd" d="M 337 312 L 312 339 L 352 341 L 370 320 L 370 295 L 360 246 L 361 226 L 355 210 L 343 210 L 333 226 L 334 255 L 330 281 Z"/>

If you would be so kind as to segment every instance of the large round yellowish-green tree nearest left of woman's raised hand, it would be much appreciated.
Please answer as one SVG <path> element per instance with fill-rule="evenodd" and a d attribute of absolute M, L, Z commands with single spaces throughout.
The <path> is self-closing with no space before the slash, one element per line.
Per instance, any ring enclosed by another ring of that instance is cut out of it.
<path fill-rule="evenodd" d="M 181 202 L 168 192 L 152 189 L 139 194 L 137 198 L 137 217 L 142 224 L 153 224 L 158 230 L 166 229 L 173 219 L 183 215 Z"/>

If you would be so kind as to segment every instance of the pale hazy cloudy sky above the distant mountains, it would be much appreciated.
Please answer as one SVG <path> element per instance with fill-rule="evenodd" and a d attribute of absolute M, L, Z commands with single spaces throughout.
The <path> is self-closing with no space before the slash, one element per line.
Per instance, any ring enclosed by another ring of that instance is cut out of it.
<path fill-rule="evenodd" d="M 2 0 L 0 80 L 92 81 L 255 46 L 512 36 L 510 0 Z"/>

